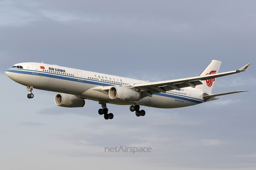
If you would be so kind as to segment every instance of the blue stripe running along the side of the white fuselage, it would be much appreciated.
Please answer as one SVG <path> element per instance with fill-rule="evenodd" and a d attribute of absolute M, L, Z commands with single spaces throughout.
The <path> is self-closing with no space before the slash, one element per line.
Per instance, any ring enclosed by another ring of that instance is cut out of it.
<path fill-rule="evenodd" d="M 102 81 L 99 81 L 99 80 L 84 79 L 84 78 L 78 78 L 78 77 L 74 77 L 74 76 L 70 76 L 70 75 L 63 75 L 63 74 L 43 72 L 43 71 L 34 71 L 36 73 L 33 73 L 33 70 L 26 70 L 26 69 L 7 69 L 6 72 L 38 75 L 38 76 L 49 77 L 49 78 L 54 78 L 54 79 L 61 79 L 61 80 L 75 81 L 75 82 L 81 82 L 81 83 L 87 83 L 87 84 L 94 84 L 94 85 L 98 85 L 98 86 L 123 85 L 123 84 L 117 84 L 117 83 L 105 83 L 105 82 L 102 82 Z M 83 80 L 83 81 L 81 81 L 81 80 Z M 182 96 L 182 95 L 174 95 L 174 94 L 171 94 L 171 93 L 168 93 L 168 92 L 166 94 L 158 93 L 158 94 L 154 94 L 154 95 L 170 97 L 170 98 L 175 98 L 175 99 L 180 99 L 180 100 L 186 100 L 186 101 L 190 101 L 190 102 L 197 103 L 197 104 L 204 102 L 204 100 L 201 100 L 201 99 L 188 97 L 188 96 Z"/>

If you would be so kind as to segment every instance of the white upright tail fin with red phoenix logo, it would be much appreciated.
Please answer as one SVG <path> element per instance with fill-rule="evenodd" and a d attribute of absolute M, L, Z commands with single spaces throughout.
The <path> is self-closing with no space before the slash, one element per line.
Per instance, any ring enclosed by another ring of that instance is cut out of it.
<path fill-rule="evenodd" d="M 221 61 L 212 60 L 206 69 L 200 75 L 217 74 L 219 72 Z M 202 89 L 205 92 L 211 93 L 215 79 L 201 81 L 203 84 L 196 86 L 196 89 Z"/>

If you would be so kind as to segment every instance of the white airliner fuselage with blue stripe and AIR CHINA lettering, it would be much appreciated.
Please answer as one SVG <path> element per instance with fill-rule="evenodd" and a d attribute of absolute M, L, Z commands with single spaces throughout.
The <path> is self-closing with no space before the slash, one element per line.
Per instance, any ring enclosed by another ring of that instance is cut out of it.
<path fill-rule="evenodd" d="M 145 97 L 139 101 L 118 101 L 110 99 L 108 94 L 94 90 L 97 86 L 125 86 L 145 83 L 146 81 L 118 77 L 97 72 L 71 69 L 58 65 L 44 63 L 19 63 L 6 70 L 6 74 L 15 82 L 24 86 L 33 86 L 35 89 L 61 92 L 76 95 L 85 99 L 104 101 L 117 105 L 139 105 L 157 108 L 177 108 L 204 103 L 204 91 L 193 88 L 170 90 L 166 93 L 157 93 L 152 97 Z"/>

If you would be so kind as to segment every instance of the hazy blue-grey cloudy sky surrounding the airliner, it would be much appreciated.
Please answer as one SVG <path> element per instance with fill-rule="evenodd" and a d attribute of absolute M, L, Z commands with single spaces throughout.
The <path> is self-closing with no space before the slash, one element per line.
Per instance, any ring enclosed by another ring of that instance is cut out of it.
<path fill-rule="evenodd" d="M 0 1 L 0 169 L 256 168 L 255 1 Z M 108 105 L 62 108 L 5 70 L 44 62 L 145 81 L 220 72 L 212 93 L 249 90 L 175 109 Z M 151 148 L 107 152 L 106 147 Z"/>

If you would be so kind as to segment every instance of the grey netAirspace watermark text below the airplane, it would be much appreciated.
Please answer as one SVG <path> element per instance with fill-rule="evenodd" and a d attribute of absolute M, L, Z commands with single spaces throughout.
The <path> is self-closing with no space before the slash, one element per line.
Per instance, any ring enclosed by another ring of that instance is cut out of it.
<path fill-rule="evenodd" d="M 152 148 L 150 147 L 105 147 L 105 152 L 151 152 Z"/>

